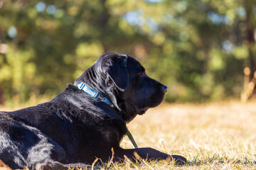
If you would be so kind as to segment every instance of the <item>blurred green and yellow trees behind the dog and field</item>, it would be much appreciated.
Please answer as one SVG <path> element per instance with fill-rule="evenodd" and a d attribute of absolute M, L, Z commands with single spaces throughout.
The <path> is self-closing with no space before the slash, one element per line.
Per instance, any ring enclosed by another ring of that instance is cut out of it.
<path fill-rule="evenodd" d="M 54 97 L 104 52 L 137 58 L 166 102 L 239 99 L 255 28 L 255 0 L 0 0 L 0 105 Z"/>

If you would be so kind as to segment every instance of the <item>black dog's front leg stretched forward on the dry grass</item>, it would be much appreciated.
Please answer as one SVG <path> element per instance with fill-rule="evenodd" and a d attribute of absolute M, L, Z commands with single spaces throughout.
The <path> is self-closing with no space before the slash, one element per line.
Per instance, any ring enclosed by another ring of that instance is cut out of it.
<path fill-rule="evenodd" d="M 136 148 L 136 149 L 117 149 L 115 152 L 114 161 L 119 161 L 120 159 L 124 160 L 124 155 L 131 159 L 132 161 L 136 161 L 136 159 L 148 159 L 148 160 L 167 160 L 174 161 L 176 164 L 186 164 L 187 160 L 184 157 L 179 155 L 169 155 L 163 152 L 160 152 L 156 149 L 152 149 L 150 147 Z M 139 155 L 139 157 L 138 157 Z"/>

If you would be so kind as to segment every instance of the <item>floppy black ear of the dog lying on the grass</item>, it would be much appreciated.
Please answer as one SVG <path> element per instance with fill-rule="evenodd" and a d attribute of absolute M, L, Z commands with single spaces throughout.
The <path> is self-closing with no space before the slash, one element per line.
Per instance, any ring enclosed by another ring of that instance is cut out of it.
<path fill-rule="evenodd" d="M 127 71 L 127 55 L 114 55 L 107 57 L 107 62 L 103 64 L 105 74 L 114 82 L 114 85 L 120 91 L 125 91 L 128 88 L 129 76 Z"/>

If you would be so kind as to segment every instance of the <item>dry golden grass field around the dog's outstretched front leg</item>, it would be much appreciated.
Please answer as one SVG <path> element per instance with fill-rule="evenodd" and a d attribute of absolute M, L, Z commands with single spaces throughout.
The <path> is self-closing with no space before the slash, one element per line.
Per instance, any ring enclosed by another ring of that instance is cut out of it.
<path fill-rule="evenodd" d="M 127 162 L 110 169 L 256 169 L 256 102 L 162 104 L 128 128 L 139 147 L 180 154 L 188 164 Z M 121 145 L 132 148 L 128 137 Z"/>

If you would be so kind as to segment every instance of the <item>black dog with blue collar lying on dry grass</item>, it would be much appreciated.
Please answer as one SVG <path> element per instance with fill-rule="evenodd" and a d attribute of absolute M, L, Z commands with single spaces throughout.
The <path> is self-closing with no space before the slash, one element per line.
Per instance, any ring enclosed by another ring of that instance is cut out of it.
<path fill-rule="evenodd" d="M 75 84 L 52 101 L 14 112 L 0 112 L 0 159 L 12 169 L 68 169 L 95 158 L 107 162 L 186 159 L 151 148 L 122 149 L 126 123 L 163 101 L 167 87 L 147 77 L 137 60 L 106 53 Z"/>

